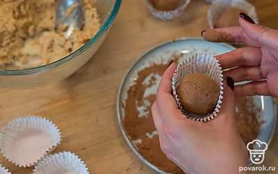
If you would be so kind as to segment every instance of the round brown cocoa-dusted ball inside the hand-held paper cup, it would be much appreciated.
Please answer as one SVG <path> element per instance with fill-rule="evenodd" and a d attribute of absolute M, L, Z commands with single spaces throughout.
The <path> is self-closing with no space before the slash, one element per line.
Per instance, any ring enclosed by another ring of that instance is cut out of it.
<path fill-rule="evenodd" d="M 177 88 L 179 102 L 184 110 L 206 115 L 215 109 L 220 95 L 216 82 L 206 74 L 188 74 Z"/>

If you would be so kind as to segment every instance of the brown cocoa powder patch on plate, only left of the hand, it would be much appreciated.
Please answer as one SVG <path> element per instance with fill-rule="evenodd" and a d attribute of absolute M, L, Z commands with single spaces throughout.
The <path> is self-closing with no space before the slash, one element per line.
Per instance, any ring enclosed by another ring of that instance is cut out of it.
<path fill-rule="evenodd" d="M 138 143 L 137 147 L 140 155 L 147 159 L 147 161 L 163 171 L 169 173 L 183 173 L 183 171 L 170 161 L 170 159 L 167 159 L 166 155 L 161 151 L 158 136 L 153 136 L 152 139 L 150 139 L 146 135 L 146 133 L 152 134 L 152 132 L 156 131 L 154 121 L 152 120 L 151 105 L 147 106 L 146 116 L 138 117 L 139 111 L 137 110 L 137 106 L 142 106 L 146 100 L 149 101 L 150 104 L 156 100 L 156 95 L 149 95 L 147 98 L 143 97 L 145 90 L 153 84 L 142 84 L 143 81 L 151 73 L 162 76 L 166 68 L 167 65 L 152 65 L 138 72 L 136 84 L 131 86 L 127 92 L 128 97 L 126 99 L 126 105 L 124 106 L 124 127 L 131 141 L 136 139 L 142 140 L 142 143 Z M 152 76 L 151 81 L 155 79 L 156 78 Z"/>

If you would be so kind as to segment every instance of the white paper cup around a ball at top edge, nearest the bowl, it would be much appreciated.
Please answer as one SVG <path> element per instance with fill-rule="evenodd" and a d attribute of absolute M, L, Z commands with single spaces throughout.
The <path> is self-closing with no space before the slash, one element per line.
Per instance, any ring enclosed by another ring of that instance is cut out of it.
<path fill-rule="evenodd" d="M 156 18 L 167 21 L 167 20 L 172 20 L 177 17 L 179 17 L 184 9 L 188 6 L 188 3 L 190 3 L 190 0 L 181 0 L 181 3 L 179 6 L 177 6 L 176 9 L 174 10 L 168 10 L 168 11 L 163 11 L 163 10 L 157 10 L 154 8 L 152 5 L 152 2 L 150 0 L 144 0 L 147 8 L 149 8 L 149 12 Z"/>

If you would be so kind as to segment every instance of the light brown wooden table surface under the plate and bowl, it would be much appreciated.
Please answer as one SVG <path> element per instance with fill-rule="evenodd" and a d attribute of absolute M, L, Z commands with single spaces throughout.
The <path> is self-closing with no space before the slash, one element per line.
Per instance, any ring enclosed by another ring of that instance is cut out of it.
<path fill-rule="evenodd" d="M 278 29 L 278 1 L 251 2 L 259 22 Z M 117 89 L 129 66 L 150 48 L 174 38 L 199 37 L 208 29 L 209 5 L 192 0 L 181 17 L 162 22 L 149 14 L 142 1 L 124 0 L 104 44 L 72 77 L 43 88 L 0 88 L 0 128 L 17 117 L 42 116 L 53 121 L 62 134 L 63 141 L 54 152 L 74 152 L 90 173 L 155 173 L 136 157 L 120 132 Z M 278 170 L 277 145 L 278 131 L 263 164 Z M 0 164 L 12 173 L 33 170 L 19 168 L 2 155 Z"/>

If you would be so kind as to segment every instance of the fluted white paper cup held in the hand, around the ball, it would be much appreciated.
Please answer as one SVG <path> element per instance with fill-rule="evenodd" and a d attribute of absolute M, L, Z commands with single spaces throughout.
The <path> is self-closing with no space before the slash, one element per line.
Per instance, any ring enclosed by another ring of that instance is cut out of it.
<path fill-rule="evenodd" d="M 221 69 L 222 68 L 218 63 L 218 60 L 216 60 L 216 58 L 208 54 L 195 54 L 189 58 L 186 58 L 182 63 L 177 65 L 177 69 L 174 70 L 174 74 L 172 77 L 172 90 L 174 98 L 176 99 L 177 104 L 179 106 L 179 109 L 181 109 L 181 112 L 187 118 L 200 122 L 206 122 L 213 119 L 213 117 L 217 116 L 217 113 L 219 112 L 219 109 L 221 107 L 221 100 L 223 98 L 223 75 Z M 202 73 L 206 74 L 208 77 L 211 77 L 211 79 L 216 81 L 216 84 L 218 84 L 218 88 L 220 90 L 218 102 L 215 105 L 215 109 L 212 113 L 208 113 L 206 116 L 201 116 L 196 113 L 190 113 L 188 111 L 185 111 L 181 106 L 181 102 L 179 102 L 179 96 L 177 95 L 176 89 L 178 88 L 183 77 L 186 77 L 188 74 L 192 73 Z"/>

